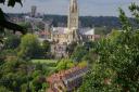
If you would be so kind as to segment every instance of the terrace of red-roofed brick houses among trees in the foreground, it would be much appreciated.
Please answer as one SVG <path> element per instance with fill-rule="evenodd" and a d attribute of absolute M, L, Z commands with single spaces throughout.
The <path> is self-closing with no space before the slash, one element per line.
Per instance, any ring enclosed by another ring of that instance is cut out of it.
<path fill-rule="evenodd" d="M 47 92 L 73 92 L 83 82 L 83 77 L 87 74 L 88 67 L 73 67 L 67 70 L 61 70 L 58 74 L 47 78 L 50 88 Z"/>

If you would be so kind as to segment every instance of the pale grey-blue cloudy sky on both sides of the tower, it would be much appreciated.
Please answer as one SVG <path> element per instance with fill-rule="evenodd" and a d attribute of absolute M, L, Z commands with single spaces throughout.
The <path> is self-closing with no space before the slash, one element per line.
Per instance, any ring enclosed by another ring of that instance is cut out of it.
<path fill-rule="evenodd" d="M 139 0 L 78 0 L 79 15 L 81 16 L 118 16 L 118 8 L 125 10 L 130 16 L 128 5 L 131 2 L 139 4 Z M 23 0 L 23 6 L 14 8 L 1 5 L 7 13 L 27 13 L 31 5 L 37 5 L 37 12 L 41 14 L 67 15 L 70 0 Z"/>

